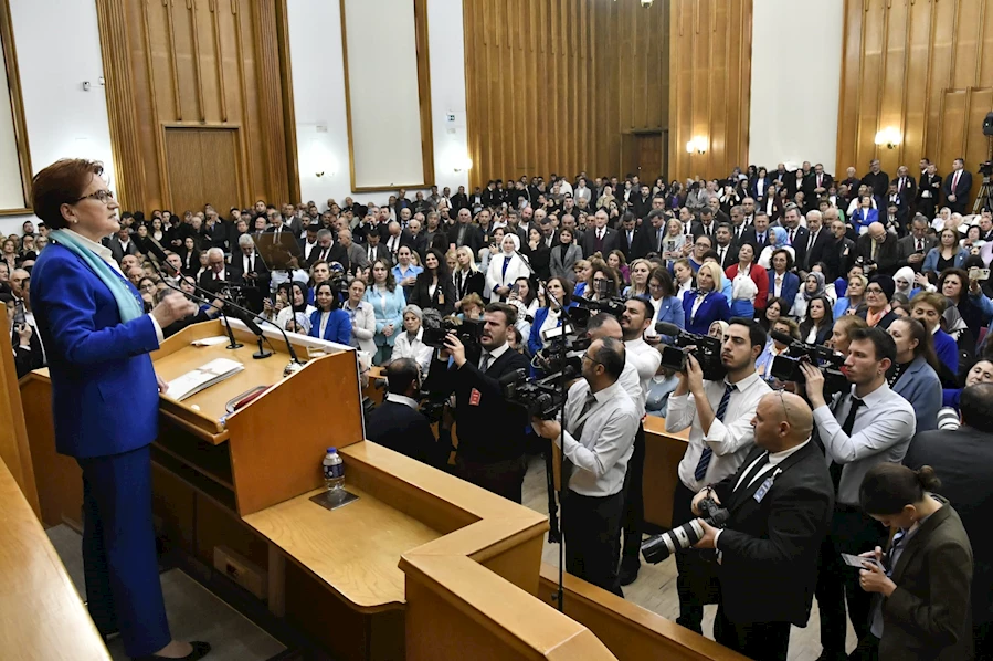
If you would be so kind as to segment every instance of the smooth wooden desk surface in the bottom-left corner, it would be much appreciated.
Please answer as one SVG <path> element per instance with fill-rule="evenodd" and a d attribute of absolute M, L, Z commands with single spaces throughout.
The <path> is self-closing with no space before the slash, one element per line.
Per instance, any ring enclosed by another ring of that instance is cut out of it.
<path fill-rule="evenodd" d="M 9 659 L 110 654 L 34 512 L 0 462 L 0 650 Z"/>

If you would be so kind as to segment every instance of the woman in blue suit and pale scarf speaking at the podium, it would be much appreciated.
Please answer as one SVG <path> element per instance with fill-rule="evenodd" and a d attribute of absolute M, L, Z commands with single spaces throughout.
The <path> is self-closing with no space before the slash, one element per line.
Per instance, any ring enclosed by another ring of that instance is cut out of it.
<path fill-rule="evenodd" d="M 34 212 L 52 230 L 31 301 L 52 379 L 55 449 L 83 469 L 83 565 L 89 615 L 120 632 L 135 659 L 201 659 L 202 642 L 172 640 L 151 520 L 149 444 L 159 381 L 148 356 L 162 328 L 197 312 L 180 294 L 145 314 L 101 239 L 119 229 L 103 166 L 60 160 L 33 182 Z"/>

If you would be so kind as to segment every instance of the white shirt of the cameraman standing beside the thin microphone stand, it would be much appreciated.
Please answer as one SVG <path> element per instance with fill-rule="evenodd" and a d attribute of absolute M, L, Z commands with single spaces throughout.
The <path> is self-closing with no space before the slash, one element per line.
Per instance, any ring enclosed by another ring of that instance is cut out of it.
<path fill-rule="evenodd" d="M 614 382 L 593 396 L 596 403 L 587 415 L 582 434 L 577 440 L 569 430 L 579 426 L 580 412 L 589 392 L 590 385 L 585 379 L 579 379 L 569 389 L 566 429 L 556 443 L 580 469 L 572 471 L 569 489 L 580 495 L 604 497 L 624 487 L 638 415 L 627 392 Z"/>

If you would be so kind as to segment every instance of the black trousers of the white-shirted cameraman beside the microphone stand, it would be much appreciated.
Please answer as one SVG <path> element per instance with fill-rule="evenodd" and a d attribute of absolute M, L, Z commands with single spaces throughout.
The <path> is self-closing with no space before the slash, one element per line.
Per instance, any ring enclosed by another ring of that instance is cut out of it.
<path fill-rule="evenodd" d="M 623 511 L 623 490 L 603 497 L 567 491 L 562 503 L 566 570 L 620 597 L 624 596 L 617 578 Z"/>

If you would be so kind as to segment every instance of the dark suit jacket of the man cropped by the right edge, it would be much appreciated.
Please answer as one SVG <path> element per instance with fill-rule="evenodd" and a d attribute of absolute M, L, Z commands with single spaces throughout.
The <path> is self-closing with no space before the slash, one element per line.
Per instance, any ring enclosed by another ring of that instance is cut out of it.
<path fill-rule="evenodd" d="M 955 431 L 922 431 L 913 437 L 904 465 L 934 469 L 936 491 L 955 507 L 972 542 L 972 618 L 993 621 L 993 432 L 963 424 Z"/>

